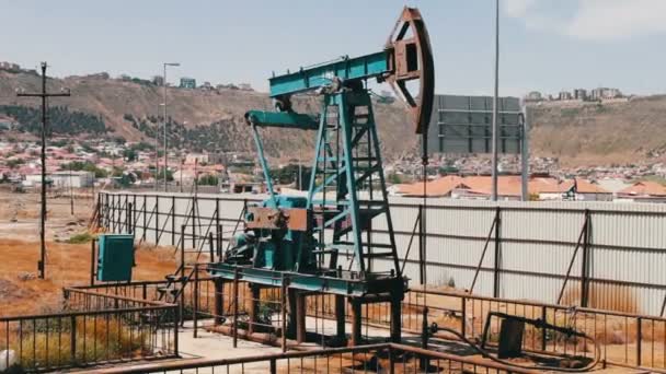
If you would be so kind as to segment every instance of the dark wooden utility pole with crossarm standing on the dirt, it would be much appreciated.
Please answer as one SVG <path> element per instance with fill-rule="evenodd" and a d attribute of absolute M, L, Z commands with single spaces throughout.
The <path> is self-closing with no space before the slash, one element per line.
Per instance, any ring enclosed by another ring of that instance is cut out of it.
<path fill-rule="evenodd" d="M 39 214 L 39 261 L 37 262 L 37 270 L 39 271 L 39 278 L 44 279 L 46 276 L 46 98 L 47 97 L 61 97 L 69 96 L 69 90 L 62 89 L 60 93 L 47 93 L 46 92 L 46 62 L 42 62 L 42 92 L 41 93 L 24 93 L 19 92 L 19 97 L 42 97 L 42 210 Z"/>

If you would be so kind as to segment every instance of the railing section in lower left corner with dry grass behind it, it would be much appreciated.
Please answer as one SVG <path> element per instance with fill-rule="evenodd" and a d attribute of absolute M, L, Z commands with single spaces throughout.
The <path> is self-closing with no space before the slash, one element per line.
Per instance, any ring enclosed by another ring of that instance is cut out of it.
<path fill-rule="evenodd" d="M 0 317 L 3 367 L 54 371 L 177 355 L 176 305 L 64 291 L 61 312 Z"/>

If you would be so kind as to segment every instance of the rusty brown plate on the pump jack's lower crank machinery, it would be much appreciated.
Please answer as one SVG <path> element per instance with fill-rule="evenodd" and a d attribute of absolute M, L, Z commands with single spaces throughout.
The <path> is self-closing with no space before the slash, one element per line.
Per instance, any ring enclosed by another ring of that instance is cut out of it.
<path fill-rule="evenodd" d="M 294 231 L 308 230 L 307 209 L 275 209 L 263 207 L 248 208 L 248 229 L 282 230 Z"/>

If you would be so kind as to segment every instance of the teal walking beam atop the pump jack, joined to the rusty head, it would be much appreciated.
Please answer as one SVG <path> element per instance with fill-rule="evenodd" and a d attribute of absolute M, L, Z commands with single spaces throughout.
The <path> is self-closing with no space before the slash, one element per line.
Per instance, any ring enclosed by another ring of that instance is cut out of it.
<path fill-rule="evenodd" d="M 389 52 L 386 50 L 356 58 L 345 56 L 340 60 L 271 78 L 271 97 L 318 90 L 330 85 L 333 78 L 357 81 L 379 77 L 389 71 Z"/>

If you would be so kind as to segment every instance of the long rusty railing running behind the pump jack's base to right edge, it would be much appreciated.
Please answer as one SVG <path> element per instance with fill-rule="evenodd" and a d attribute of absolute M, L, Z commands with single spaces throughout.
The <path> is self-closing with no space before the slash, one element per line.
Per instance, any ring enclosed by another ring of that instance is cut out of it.
<path fill-rule="evenodd" d="M 142 296 L 157 294 L 154 291 L 164 282 L 134 282 L 129 284 L 95 287 L 95 292 L 117 293 L 125 296 Z M 198 287 L 194 287 L 194 284 Z M 204 272 L 200 277 L 191 279 L 184 292 L 185 315 L 192 318 L 198 316 L 198 327 L 209 328 L 219 325 L 220 318 L 233 318 L 232 282 L 225 282 L 216 289 L 213 278 Z M 425 296 L 425 297 L 424 297 Z M 237 316 L 243 329 L 252 328 L 257 331 L 262 328 L 274 327 L 277 331 L 282 325 L 282 314 L 275 312 L 269 323 L 248 324 L 249 303 L 275 302 L 279 305 L 280 290 L 262 290 L 260 297 L 251 294 L 246 284 L 241 283 L 238 291 Z M 221 303 L 216 313 L 216 303 Z M 455 328 L 467 337 L 479 337 L 489 312 L 504 312 L 521 315 L 529 318 L 541 318 L 550 324 L 561 327 L 575 327 L 597 339 L 601 347 L 602 362 L 611 365 L 627 367 L 646 367 L 653 371 L 666 372 L 666 318 L 595 309 L 583 307 L 567 307 L 532 301 L 516 301 L 506 299 L 485 297 L 457 291 L 423 291 L 411 290 L 402 303 L 402 329 L 409 334 L 421 334 L 423 322 L 423 307 L 428 307 L 428 322 L 440 326 Z M 348 305 L 347 305 L 348 308 Z M 196 312 L 196 313 L 194 313 Z M 323 332 L 324 319 L 335 318 L 335 302 L 331 295 L 312 294 L 307 296 L 308 316 L 314 318 L 309 329 Z M 351 311 L 347 309 L 347 316 Z M 390 306 L 388 304 L 364 305 L 361 309 L 364 335 L 368 328 L 388 328 L 390 326 Z M 245 325 L 242 325 L 245 324 Z M 263 326 L 266 325 L 266 326 Z M 496 340 L 498 326 L 491 324 L 491 344 Z M 196 331 L 196 330 L 195 330 Z M 234 334 L 232 330 L 229 331 Z M 196 334 L 196 332 L 194 332 Z M 238 329 L 236 330 L 238 334 Z M 439 335 L 439 338 L 451 338 Z M 524 347 L 535 352 L 556 354 L 573 354 L 592 357 L 590 347 L 576 339 L 567 339 L 548 329 L 526 327 Z"/>

